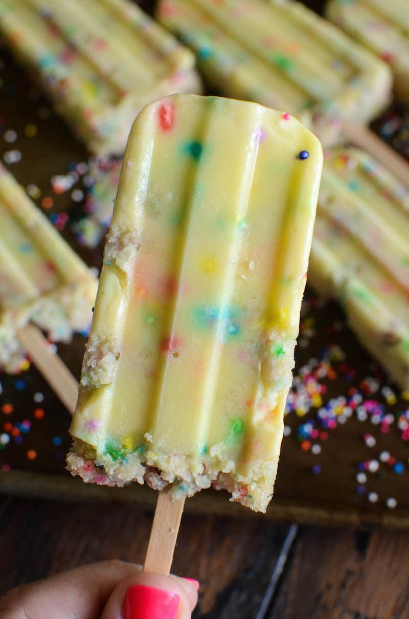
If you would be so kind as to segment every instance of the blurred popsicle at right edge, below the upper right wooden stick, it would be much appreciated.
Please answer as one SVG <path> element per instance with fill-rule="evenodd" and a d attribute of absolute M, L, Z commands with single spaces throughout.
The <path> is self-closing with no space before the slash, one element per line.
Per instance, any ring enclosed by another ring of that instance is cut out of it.
<path fill-rule="evenodd" d="M 409 389 L 408 239 L 408 186 L 361 150 L 332 152 L 324 162 L 308 282 L 341 303 L 361 343 L 403 389 Z"/>

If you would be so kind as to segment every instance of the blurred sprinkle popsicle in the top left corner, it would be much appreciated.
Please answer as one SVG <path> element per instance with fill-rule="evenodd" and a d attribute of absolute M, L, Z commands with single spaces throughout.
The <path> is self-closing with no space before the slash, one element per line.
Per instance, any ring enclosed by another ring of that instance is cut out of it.
<path fill-rule="evenodd" d="M 0 33 L 91 152 L 123 154 L 146 103 L 201 92 L 192 52 L 129 0 L 0 0 Z"/>

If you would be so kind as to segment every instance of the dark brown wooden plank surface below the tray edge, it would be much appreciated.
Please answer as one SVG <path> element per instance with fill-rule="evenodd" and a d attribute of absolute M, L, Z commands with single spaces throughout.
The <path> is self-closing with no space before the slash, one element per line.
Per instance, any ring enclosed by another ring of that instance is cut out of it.
<path fill-rule="evenodd" d="M 152 517 L 2 498 L 0 592 L 92 561 L 141 563 Z M 408 565 L 409 532 L 185 514 L 173 571 L 201 583 L 195 619 L 407 619 Z"/>

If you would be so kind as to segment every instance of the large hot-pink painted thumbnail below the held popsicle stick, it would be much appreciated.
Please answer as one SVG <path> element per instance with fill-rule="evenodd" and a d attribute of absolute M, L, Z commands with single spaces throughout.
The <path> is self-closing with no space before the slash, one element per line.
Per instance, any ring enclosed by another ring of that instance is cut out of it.
<path fill-rule="evenodd" d="M 129 587 L 124 599 L 125 619 L 175 619 L 179 595 L 163 589 L 136 585 Z"/>

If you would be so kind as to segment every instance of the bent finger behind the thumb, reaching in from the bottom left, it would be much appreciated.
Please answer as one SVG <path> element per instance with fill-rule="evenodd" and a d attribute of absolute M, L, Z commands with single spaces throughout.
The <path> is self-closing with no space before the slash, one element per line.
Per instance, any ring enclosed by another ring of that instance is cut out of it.
<path fill-rule="evenodd" d="M 115 587 L 136 578 L 141 567 L 101 561 L 12 589 L 0 597 L 2 619 L 91 619 L 99 617 Z"/>

